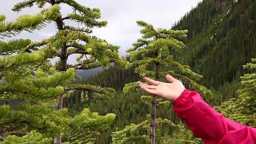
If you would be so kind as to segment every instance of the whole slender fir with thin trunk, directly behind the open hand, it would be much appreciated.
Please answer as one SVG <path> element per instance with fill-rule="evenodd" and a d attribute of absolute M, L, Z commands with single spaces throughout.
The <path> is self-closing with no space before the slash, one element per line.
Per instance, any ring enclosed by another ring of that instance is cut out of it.
<path fill-rule="evenodd" d="M 130 53 L 130 61 L 136 66 L 135 72 L 140 76 L 147 76 L 154 80 L 163 79 L 166 74 L 170 74 L 179 80 L 186 82 L 190 88 L 196 89 L 200 94 L 211 97 L 213 94 L 204 86 L 199 85 L 195 80 L 202 76 L 190 70 L 189 66 L 181 65 L 174 61 L 170 54 L 170 49 L 181 50 L 185 45 L 177 39 L 186 38 L 187 30 L 167 30 L 155 29 L 151 24 L 137 21 L 138 26 L 143 27 L 140 33 L 143 34 L 133 45 L 133 48 L 126 50 Z M 142 56 L 142 59 L 138 59 Z M 153 67 L 152 68 L 150 68 Z M 171 69 L 172 68 L 172 69 Z M 176 68 L 176 69 L 174 69 Z M 171 69 L 171 70 L 170 70 Z M 179 70 L 181 74 L 175 71 Z M 124 93 L 138 90 L 138 84 L 132 82 L 124 86 Z M 156 117 L 157 106 L 169 106 L 170 102 L 157 96 L 141 96 L 142 102 L 150 106 L 150 114 L 147 119 L 140 124 L 130 124 L 123 130 L 113 132 L 113 144 L 156 144 L 161 143 L 161 129 L 164 125 L 172 128 L 179 128 L 172 121 Z"/>

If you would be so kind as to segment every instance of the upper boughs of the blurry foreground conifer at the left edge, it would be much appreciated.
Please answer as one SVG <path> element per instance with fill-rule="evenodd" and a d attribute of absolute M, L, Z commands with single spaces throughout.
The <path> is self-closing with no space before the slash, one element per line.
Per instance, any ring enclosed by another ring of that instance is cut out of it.
<path fill-rule="evenodd" d="M 27 28 L 33 28 L 33 26 L 42 24 L 42 21 L 49 20 L 49 18 L 56 16 L 57 11 L 58 6 L 52 6 L 48 11 L 44 12 L 44 14 L 36 14 L 35 16 L 40 17 L 36 20 L 32 19 L 34 16 L 25 15 L 20 16 L 15 22 L 2 21 L 3 25 L 0 29 L 0 34 L 2 34 L 2 36 L 8 36 L 9 34 L 18 34 L 21 30 L 27 30 Z M 40 20 L 41 23 L 38 22 Z M 24 21 L 27 23 L 24 23 Z M 9 26 L 11 24 L 17 26 Z M 54 76 L 47 76 L 45 73 L 38 71 L 34 72 L 34 76 L 36 77 L 32 76 L 33 68 L 44 58 L 44 52 L 35 51 L 31 54 L 17 54 L 29 44 L 30 40 L 28 39 L 12 40 L 10 42 L 0 41 L 0 55 L 3 56 L 0 58 L 0 78 L 3 80 L 3 82 L 0 83 L 1 100 L 17 100 L 20 99 L 21 96 L 31 99 L 43 97 L 45 100 L 48 98 L 56 98 L 64 90 L 62 86 L 58 85 L 73 80 L 72 78 L 70 79 L 70 77 L 74 75 L 74 69 L 70 69 L 65 73 L 58 72 Z M 23 94 L 26 96 L 23 96 Z"/>

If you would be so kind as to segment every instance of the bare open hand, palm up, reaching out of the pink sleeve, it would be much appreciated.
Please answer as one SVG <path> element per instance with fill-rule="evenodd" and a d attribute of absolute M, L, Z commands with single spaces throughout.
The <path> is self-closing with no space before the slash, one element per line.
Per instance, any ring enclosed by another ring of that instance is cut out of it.
<path fill-rule="evenodd" d="M 164 98 L 172 102 L 176 100 L 176 98 L 178 98 L 180 94 L 182 94 L 182 92 L 185 90 L 185 87 L 183 86 L 182 82 L 180 82 L 179 80 L 176 80 L 169 74 L 166 75 L 166 79 L 170 83 L 159 82 L 147 77 L 144 77 L 143 79 L 149 84 L 152 84 L 152 85 L 148 85 L 148 84 L 144 84 L 143 82 L 137 82 L 137 84 L 139 84 L 140 88 L 144 90 L 144 92 L 147 92 L 148 94 L 160 96 L 161 98 Z"/>

